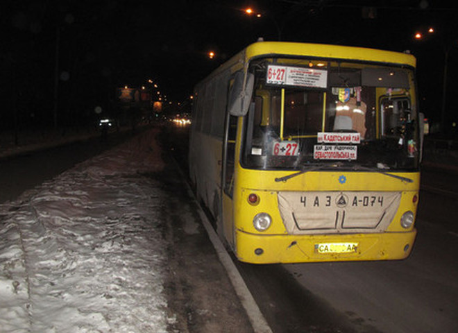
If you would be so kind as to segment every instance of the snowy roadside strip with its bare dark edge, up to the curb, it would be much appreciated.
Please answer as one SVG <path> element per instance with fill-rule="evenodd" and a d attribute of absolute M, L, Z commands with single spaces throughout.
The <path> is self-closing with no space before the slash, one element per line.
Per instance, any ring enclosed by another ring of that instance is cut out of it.
<path fill-rule="evenodd" d="M 253 332 L 157 132 L 0 205 L 1 332 Z"/>

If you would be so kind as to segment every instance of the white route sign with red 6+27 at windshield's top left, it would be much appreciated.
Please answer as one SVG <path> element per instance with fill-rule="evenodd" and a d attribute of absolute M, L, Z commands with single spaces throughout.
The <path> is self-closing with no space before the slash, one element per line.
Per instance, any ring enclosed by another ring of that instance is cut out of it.
<path fill-rule="evenodd" d="M 266 81 L 271 85 L 325 88 L 328 86 L 328 71 L 306 67 L 269 65 Z"/>

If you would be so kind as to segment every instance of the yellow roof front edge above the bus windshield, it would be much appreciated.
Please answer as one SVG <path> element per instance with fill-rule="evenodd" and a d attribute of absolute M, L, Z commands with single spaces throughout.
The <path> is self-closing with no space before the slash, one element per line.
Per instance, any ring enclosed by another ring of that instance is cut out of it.
<path fill-rule="evenodd" d="M 244 51 L 246 54 L 246 60 L 269 55 L 299 56 L 374 61 L 416 67 L 416 58 L 412 56 L 412 54 L 369 49 L 357 46 L 296 42 L 256 42 L 248 45 Z"/>

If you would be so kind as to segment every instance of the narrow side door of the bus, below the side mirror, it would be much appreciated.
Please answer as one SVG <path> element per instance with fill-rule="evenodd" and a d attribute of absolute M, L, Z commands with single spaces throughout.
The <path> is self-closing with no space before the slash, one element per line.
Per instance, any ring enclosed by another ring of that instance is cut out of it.
<path fill-rule="evenodd" d="M 235 139 L 237 137 L 238 117 L 228 114 L 226 120 L 225 139 L 223 148 L 223 177 L 222 177 L 222 207 L 221 222 L 223 223 L 223 234 L 218 230 L 220 237 L 224 235 L 228 243 L 234 244 L 234 222 L 233 222 L 233 194 L 234 194 L 234 170 L 235 170 Z M 218 225 L 217 228 L 221 228 Z"/>

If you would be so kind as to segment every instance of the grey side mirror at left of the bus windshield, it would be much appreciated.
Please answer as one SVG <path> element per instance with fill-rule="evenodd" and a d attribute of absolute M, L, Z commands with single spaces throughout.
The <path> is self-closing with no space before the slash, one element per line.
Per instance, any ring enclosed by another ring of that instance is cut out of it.
<path fill-rule="evenodd" d="M 248 73 L 246 74 L 246 81 L 244 79 L 244 72 L 238 71 L 235 74 L 232 89 L 230 89 L 228 111 L 230 115 L 235 117 L 243 117 L 250 107 L 255 76 Z"/>

